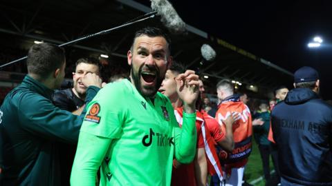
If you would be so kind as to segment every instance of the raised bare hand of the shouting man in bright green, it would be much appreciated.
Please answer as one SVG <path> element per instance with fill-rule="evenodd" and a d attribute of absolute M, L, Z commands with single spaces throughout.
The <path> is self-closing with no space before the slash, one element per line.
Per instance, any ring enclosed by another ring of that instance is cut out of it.
<path fill-rule="evenodd" d="M 176 92 L 183 101 L 183 110 L 186 113 L 194 113 L 196 100 L 199 96 L 199 76 L 193 70 L 187 70 L 175 78 Z"/>

